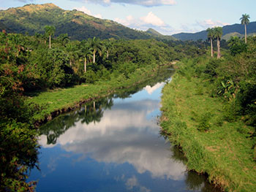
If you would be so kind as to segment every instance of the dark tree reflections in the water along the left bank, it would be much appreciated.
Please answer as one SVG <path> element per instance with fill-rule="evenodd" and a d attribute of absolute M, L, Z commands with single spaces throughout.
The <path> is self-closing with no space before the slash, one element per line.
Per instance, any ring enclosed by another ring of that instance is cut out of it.
<path fill-rule="evenodd" d="M 95 107 L 94 102 L 91 102 L 85 104 L 83 107 L 80 107 L 79 110 L 75 110 L 64 115 L 60 115 L 59 117 L 54 118 L 50 122 L 41 126 L 39 128 L 39 135 L 46 135 L 47 144 L 55 145 L 57 139 L 61 136 L 61 134 L 64 134 L 69 128 L 75 126 L 75 123 L 81 121 L 81 123 L 86 123 L 86 125 L 89 125 L 89 123 L 92 122 L 100 122 L 101 118 L 103 117 L 104 110 L 110 110 L 113 106 L 113 99 L 129 98 L 132 94 L 137 93 L 146 85 L 153 86 L 157 82 L 167 80 L 167 78 L 170 77 L 170 75 L 171 74 L 169 70 L 159 70 L 157 77 L 155 77 L 154 79 L 148 80 L 138 85 L 134 85 L 131 88 L 119 90 L 112 96 L 99 99 L 95 101 Z"/>

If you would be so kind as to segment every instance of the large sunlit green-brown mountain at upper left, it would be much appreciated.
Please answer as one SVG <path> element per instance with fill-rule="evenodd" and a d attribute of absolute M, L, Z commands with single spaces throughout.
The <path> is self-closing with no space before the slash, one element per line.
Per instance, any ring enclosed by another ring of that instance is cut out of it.
<path fill-rule="evenodd" d="M 0 30 L 10 33 L 44 34 L 45 26 L 55 26 L 56 36 L 68 34 L 70 39 L 149 39 L 144 31 L 133 30 L 113 20 L 102 20 L 78 10 L 64 10 L 55 4 L 27 4 L 0 10 Z"/>

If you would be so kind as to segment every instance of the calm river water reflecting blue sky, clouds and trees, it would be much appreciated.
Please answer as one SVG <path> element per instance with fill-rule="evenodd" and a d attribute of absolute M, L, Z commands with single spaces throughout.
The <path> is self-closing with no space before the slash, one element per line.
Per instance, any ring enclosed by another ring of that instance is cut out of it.
<path fill-rule="evenodd" d="M 159 135 L 165 83 L 86 104 L 42 126 L 41 171 L 29 178 L 39 181 L 37 191 L 215 191 L 187 172 L 183 156 Z"/>

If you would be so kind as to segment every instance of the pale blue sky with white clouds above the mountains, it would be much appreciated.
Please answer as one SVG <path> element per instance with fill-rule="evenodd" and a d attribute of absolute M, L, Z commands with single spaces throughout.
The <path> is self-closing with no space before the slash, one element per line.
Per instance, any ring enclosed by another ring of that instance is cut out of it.
<path fill-rule="evenodd" d="M 240 23 L 246 13 L 256 20 L 255 0 L 0 0 L 0 9 L 24 4 L 53 3 L 97 18 L 115 20 L 130 28 L 154 28 L 162 34 L 202 31 Z"/>

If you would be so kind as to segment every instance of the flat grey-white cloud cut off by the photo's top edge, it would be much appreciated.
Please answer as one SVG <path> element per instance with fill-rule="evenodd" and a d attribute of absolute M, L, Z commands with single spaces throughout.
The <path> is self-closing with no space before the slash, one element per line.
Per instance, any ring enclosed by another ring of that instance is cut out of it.
<path fill-rule="evenodd" d="M 83 2 L 91 2 L 94 4 L 104 4 L 110 5 L 111 3 L 120 3 L 120 4 L 138 4 L 144 7 L 155 7 L 162 5 L 174 5 L 176 1 L 174 0 L 73 0 L 73 1 L 83 1 Z"/>

